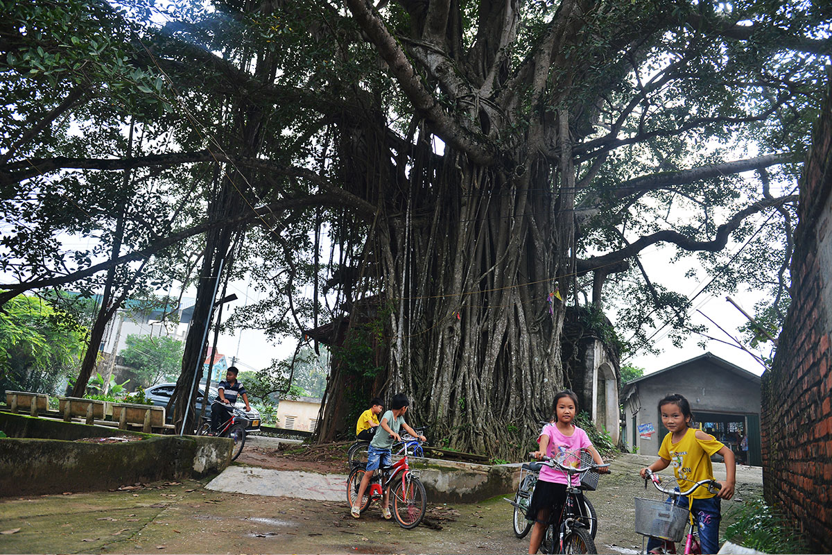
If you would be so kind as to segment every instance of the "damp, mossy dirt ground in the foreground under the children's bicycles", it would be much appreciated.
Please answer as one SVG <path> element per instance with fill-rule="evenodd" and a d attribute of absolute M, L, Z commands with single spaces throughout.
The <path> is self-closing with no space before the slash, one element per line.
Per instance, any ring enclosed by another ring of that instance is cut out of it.
<path fill-rule="evenodd" d="M 636 470 L 646 461 L 620 456 L 613 474 L 589 494 L 600 521 L 600 553 L 634 553 L 641 545 L 632 532 L 632 498 L 645 495 Z M 738 474 L 740 498 L 760 492 L 759 468 L 740 468 Z M 731 504 L 724 503 L 723 513 Z M 441 529 L 403 530 L 384 521 L 375 505 L 356 520 L 345 500 L 220 493 L 191 481 L 151 483 L 114 492 L 4 498 L 0 552 L 526 553 L 527 538 L 514 538 L 512 511 L 501 498 L 431 505 L 428 515 Z"/>

